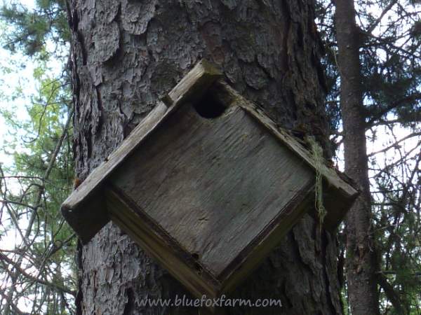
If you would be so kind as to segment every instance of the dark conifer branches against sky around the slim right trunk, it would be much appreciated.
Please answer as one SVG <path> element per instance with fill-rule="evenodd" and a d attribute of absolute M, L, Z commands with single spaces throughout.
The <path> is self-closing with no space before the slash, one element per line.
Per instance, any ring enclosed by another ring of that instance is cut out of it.
<path fill-rule="evenodd" d="M 381 311 L 421 314 L 420 7 L 395 0 L 355 2 L 368 145 L 385 143 L 369 154 L 377 272 L 387 280 L 378 286 Z M 316 22 L 326 44 L 326 109 L 338 148 L 342 122 L 334 9 L 330 1 L 319 1 Z"/>

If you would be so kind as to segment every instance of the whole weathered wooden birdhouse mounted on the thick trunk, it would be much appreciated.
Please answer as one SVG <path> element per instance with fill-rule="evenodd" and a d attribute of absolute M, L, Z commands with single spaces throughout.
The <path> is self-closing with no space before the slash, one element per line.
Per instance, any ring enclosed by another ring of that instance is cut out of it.
<path fill-rule="evenodd" d="M 202 61 L 62 204 L 88 242 L 109 220 L 197 296 L 234 288 L 314 209 L 357 191 Z"/>

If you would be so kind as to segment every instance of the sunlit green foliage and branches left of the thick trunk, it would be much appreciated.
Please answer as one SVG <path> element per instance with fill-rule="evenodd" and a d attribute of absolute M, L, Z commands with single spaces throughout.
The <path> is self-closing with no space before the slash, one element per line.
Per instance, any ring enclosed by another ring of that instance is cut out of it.
<path fill-rule="evenodd" d="M 74 314 L 76 236 L 60 213 L 72 191 L 71 91 L 67 69 L 69 30 L 65 1 L 19 3 L 1 9 L 7 23 L 2 43 L 36 64 L 32 84 L 4 94 L 0 116 L 6 123 L 0 156 L 0 238 L 15 245 L 0 248 L 0 313 L 15 314 L 31 301 L 31 314 Z M 51 66 L 49 66 L 51 65 Z M 13 73 L 9 64 L 3 73 Z M 27 311 L 27 309 L 25 309 Z"/>

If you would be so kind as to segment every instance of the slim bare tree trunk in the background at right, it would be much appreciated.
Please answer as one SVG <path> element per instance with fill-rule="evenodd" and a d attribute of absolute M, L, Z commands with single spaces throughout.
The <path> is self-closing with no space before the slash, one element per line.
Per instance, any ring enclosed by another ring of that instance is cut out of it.
<path fill-rule="evenodd" d="M 346 220 L 348 297 L 352 314 L 375 315 L 379 314 L 379 296 L 370 223 L 366 123 L 359 61 L 359 30 L 355 22 L 354 0 L 336 1 L 335 22 L 338 36 L 345 172 L 361 189 L 361 195 L 348 212 Z"/>

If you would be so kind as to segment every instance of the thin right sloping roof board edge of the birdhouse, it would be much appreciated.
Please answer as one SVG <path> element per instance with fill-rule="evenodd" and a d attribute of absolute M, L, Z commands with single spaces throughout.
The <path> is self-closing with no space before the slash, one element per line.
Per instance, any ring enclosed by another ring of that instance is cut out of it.
<path fill-rule="evenodd" d="M 264 125 L 267 130 L 272 132 L 283 144 L 285 144 L 290 150 L 295 152 L 302 160 L 307 162 L 307 165 L 316 169 L 317 163 L 314 161 L 312 154 L 307 151 L 294 137 L 288 134 L 285 130 L 282 130 L 272 119 L 270 119 L 261 109 L 259 109 L 255 104 L 248 101 L 242 97 L 236 90 L 230 87 L 227 83 L 219 80 L 215 83 L 215 90 L 218 88 L 224 89 L 228 92 L 229 97 L 225 99 L 225 102 L 229 102 L 231 106 L 240 106 L 242 109 L 245 109 L 251 116 L 257 119 L 262 125 Z M 335 187 L 342 195 L 348 198 L 354 198 L 359 193 L 358 191 L 349 183 L 341 179 L 337 172 L 330 167 L 323 167 L 320 169 L 320 172 L 330 186 Z"/>

